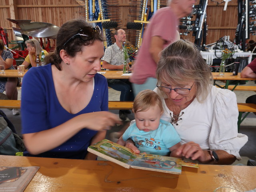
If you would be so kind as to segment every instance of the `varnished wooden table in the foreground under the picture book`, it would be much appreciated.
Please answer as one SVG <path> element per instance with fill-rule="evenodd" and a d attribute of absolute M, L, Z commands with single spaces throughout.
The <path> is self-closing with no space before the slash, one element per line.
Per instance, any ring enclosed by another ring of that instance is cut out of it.
<path fill-rule="evenodd" d="M 254 166 L 182 167 L 182 174 L 175 175 L 126 169 L 109 161 L 0 156 L 0 162 L 1 166 L 40 166 L 25 192 L 213 192 L 218 187 L 244 192 L 256 188 Z"/>

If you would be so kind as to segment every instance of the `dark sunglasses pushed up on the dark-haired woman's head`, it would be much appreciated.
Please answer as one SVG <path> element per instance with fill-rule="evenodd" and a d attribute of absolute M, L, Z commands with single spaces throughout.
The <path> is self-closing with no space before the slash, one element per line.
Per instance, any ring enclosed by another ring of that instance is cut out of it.
<path fill-rule="evenodd" d="M 76 32 L 76 34 L 74 34 L 69 40 L 66 41 L 66 43 L 64 43 L 64 46 L 70 42 L 71 40 L 73 40 L 74 38 L 80 38 L 83 41 L 89 40 L 94 38 L 95 32 L 98 32 L 98 34 L 101 34 L 100 28 L 97 25 L 95 28 L 92 27 L 84 27 L 84 28 L 80 28 L 78 30 L 78 32 Z"/>

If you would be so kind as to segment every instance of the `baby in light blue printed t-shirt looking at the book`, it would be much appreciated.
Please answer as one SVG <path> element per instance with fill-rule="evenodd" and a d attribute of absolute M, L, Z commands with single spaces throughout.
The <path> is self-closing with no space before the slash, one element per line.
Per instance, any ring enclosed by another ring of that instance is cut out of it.
<path fill-rule="evenodd" d="M 139 92 L 134 99 L 133 112 L 135 123 L 119 138 L 118 144 L 124 146 L 130 138 L 140 152 L 181 157 L 176 155 L 180 147 L 178 133 L 169 122 L 160 119 L 163 107 L 158 94 L 149 89 Z"/>

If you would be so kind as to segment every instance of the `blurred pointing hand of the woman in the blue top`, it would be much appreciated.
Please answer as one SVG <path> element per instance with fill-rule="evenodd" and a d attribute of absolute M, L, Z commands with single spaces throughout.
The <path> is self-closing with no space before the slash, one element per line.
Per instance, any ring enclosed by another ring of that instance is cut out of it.
<path fill-rule="evenodd" d="M 77 118 L 84 123 L 84 128 L 95 131 L 108 130 L 116 123 L 122 124 L 122 121 L 116 114 L 108 111 L 81 114 Z"/>

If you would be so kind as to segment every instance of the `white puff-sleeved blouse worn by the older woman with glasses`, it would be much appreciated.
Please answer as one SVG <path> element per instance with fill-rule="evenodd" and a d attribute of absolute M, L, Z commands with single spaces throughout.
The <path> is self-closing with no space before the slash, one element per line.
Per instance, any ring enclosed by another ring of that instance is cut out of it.
<path fill-rule="evenodd" d="M 154 91 L 157 92 L 157 88 Z M 164 113 L 161 119 L 171 122 L 173 114 L 164 99 L 162 105 Z M 248 137 L 238 133 L 237 121 L 236 94 L 211 85 L 206 100 L 200 103 L 195 98 L 187 108 L 181 110 L 179 120 L 173 126 L 182 144 L 193 141 L 203 150 L 224 150 L 241 159 L 239 150 Z"/>

